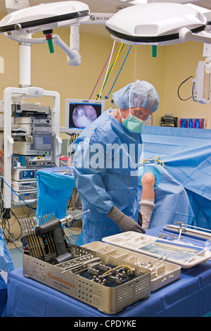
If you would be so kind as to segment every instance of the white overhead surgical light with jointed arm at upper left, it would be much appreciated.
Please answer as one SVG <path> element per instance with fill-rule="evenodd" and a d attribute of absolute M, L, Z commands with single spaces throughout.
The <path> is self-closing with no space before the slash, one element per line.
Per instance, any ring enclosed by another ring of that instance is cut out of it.
<path fill-rule="evenodd" d="M 89 6 L 81 1 L 60 1 L 51 4 L 27 7 L 13 11 L 0 21 L 0 33 L 20 44 L 43 44 L 48 42 L 53 53 L 53 42 L 67 54 L 68 64 L 79 65 L 79 25 L 90 18 Z M 70 25 L 70 47 L 53 29 Z M 32 38 L 35 32 L 44 32 L 45 38 Z M 29 58 L 29 56 L 27 56 Z"/>

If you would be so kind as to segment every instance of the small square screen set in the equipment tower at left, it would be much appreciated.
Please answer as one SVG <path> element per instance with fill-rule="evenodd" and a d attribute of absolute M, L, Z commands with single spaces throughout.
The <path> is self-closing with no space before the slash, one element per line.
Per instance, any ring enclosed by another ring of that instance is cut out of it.
<path fill-rule="evenodd" d="M 36 151 L 52 151 L 52 134 L 49 131 L 33 132 L 33 145 Z"/>

